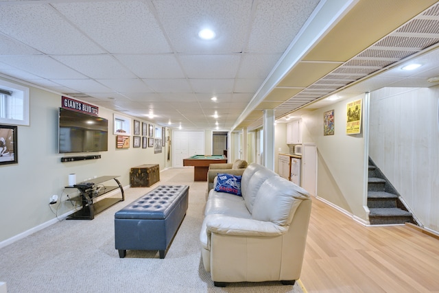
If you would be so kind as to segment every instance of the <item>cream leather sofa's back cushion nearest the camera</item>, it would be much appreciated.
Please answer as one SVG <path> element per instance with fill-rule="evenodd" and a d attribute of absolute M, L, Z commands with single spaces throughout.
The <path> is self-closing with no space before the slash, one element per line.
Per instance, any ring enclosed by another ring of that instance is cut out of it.
<path fill-rule="evenodd" d="M 309 199 L 305 189 L 281 176 L 273 176 L 265 180 L 257 193 L 252 218 L 274 222 L 281 226 L 289 225 L 300 202 Z"/>

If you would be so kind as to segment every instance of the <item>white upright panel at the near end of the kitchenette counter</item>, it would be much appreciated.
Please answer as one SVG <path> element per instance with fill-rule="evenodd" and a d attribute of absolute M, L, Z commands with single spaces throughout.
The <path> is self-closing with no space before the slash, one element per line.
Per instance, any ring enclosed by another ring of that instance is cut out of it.
<path fill-rule="evenodd" d="M 317 146 L 304 143 L 302 149 L 302 187 L 311 194 L 317 195 Z"/>

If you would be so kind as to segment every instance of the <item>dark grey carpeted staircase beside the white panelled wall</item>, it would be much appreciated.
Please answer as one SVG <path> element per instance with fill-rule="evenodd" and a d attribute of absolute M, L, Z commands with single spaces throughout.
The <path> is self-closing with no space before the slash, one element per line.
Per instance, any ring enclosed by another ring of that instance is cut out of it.
<path fill-rule="evenodd" d="M 369 158 L 368 172 L 369 222 L 372 225 L 416 224 L 412 213 L 399 200 L 396 189 Z"/>

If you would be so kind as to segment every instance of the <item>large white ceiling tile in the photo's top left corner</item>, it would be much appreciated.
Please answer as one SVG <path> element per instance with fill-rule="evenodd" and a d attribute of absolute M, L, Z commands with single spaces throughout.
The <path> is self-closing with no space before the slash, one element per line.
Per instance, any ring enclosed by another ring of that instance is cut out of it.
<path fill-rule="evenodd" d="M 47 3 L 2 5 L 0 31 L 45 54 L 103 53 Z"/>

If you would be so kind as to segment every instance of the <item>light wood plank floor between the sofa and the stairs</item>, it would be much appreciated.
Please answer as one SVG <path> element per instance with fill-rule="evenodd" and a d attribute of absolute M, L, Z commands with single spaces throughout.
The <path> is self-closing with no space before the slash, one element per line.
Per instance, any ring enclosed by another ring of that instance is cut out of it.
<path fill-rule="evenodd" d="M 439 292 L 439 239 L 365 227 L 313 198 L 300 281 L 307 292 Z"/>

